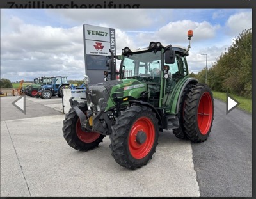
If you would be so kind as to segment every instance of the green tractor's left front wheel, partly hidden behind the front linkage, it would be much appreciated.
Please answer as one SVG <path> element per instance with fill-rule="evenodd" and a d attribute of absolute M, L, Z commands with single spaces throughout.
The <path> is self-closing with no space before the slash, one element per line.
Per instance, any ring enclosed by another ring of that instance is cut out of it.
<path fill-rule="evenodd" d="M 86 112 L 87 106 L 79 107 L 81 111 Z M 63 121 L 63 136 L 70 147 L 76 150 L 91 150 L 98 147 L 105 137 L 97 132 L 84 132 L 81 129 L 81 123 L 76 112 L 71 108 Z"/>

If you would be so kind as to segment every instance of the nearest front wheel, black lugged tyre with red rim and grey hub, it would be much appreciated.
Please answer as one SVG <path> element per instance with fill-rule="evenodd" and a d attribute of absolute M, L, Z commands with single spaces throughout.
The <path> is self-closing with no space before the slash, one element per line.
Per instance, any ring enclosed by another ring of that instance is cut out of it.
<path fill-rule="evenodd" d="M 130 169 L 147 164 L 158 144 L 157 122 L 156 114 L 145 106 L 131 106 L 118 116 L 109 136 L 116 163 Z"/>

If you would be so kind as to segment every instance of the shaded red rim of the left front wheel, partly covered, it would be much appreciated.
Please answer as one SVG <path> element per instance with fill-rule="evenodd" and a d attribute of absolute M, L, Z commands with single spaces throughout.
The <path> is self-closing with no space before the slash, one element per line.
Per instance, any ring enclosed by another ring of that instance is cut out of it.
<path fill-rule="evenodd" d="M 83 141 L 84 143 L 92 143 L 96 139 L 99 138 L 100 133 L 98 132 L 88 132 L 88 131 L 82 131 L 81 129 L 81 123 L 78 119 L 76 122 L 76 134 L 78 138 Z"/>

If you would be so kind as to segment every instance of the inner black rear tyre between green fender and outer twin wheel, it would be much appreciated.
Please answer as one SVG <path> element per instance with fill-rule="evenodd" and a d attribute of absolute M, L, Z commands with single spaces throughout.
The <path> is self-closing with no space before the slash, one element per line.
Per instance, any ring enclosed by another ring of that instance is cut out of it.
<path fill-rule="evenodd" d="M 183 114 L 184 114 L 184 103 L 187 97 L 187 94 L 190 90 L 190 88 L 193 87 L 193 84 L 188 84 L 185 89 L 182 92 L 181 100 L 179 104 L 179 112 L 178 112 L 178 118 L 179 118 L 179 128 L 173 129 L 172 132 L 175 134 L 175 136 L 179 139 L 188 139 L 186 136 L 186 133 L 184 131 L 184 120 L 183 120 Z"/>

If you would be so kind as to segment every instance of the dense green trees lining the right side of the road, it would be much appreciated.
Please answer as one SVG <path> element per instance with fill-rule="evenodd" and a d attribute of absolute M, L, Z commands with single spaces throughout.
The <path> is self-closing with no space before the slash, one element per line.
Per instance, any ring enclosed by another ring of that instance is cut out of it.
<path fill-rule="evenodd" d="M 205 68 L 198 72 L 205 81 Z M 207 70 L 207 84 L 212 90 L 252 97 L 252 29 L 243 30 L 227 52 L 221 52 Z"/>

